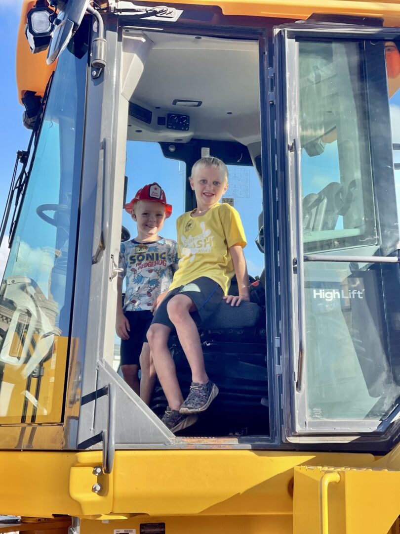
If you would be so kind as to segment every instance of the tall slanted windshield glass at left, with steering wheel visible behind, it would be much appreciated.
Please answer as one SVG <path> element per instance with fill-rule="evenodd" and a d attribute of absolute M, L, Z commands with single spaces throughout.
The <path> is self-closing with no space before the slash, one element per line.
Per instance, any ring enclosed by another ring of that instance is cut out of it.
<path fill-rule="evenodd" d="M 59 60 L 0 289 L 0 423 L 61 421 L 86 57 Z"/>

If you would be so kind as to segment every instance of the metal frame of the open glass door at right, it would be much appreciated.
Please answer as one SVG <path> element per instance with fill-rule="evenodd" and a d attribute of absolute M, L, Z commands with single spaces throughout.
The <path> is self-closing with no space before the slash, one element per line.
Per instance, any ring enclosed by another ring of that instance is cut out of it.
<path fill-rule="evenodd" d="M 282 350 L 284 354 L 291 355 L 290 362 L 286 367 L 287 372 L 284 376 L 284 395 L 290 398 L 290 409 L 284 411 L 284 430 L 285 438 L 289 443 L 306 444 L 313 442 L 318 443 L 336 443 L 336 442 L 354 442 L 354 449 L 356 450 L 388 450 L 391 444 L 396 442 L 400 432 L 400 421 L 398 414 L 400 408 L 397 407 L 390 417 L 384 421 L 376 421 L 376 424 L 371 424 L 370 421 L 321 421 L 310 422 L 307 420 L 307 425 L 304 426 L 299 423 L 300 420 L 306 420 L 306 390 L 303 388 L 301 392 L 297 391 L 296 381 L 298 380 L 299 369 L 299 332 L 302 328 L 299 320 L 300 312 L 298 313 L 298 282 L 294 275 L 294 269 L 302 270 L 302 260 L 299 262 L 298 256 L 298 235 L 297 227 L 301 225 L 302 217 L 299 216 L 299 209 L 295 206 L 293 201 L 295 198 L 301 198 L 301 189 L 296 184 L 301 184 L 300 168 L 300 143 L 293 145 L 293 139 L 300 139 L 299 124 L 297 120 L 291 120 L 292 116 L 296 116 L 299 109 L 299 87 L 297 73 L 299 72 L 299 58 L 298 58 L 298 41 L 302 39 L 307 40 L 345 40 L 345 41 L 364 41 L 368 46 L 371 46 L 370 41 L 385 41 L 396 40 L 399 36 L 397 28 L 369 28 L 356 27 L 350 25 L 343 25 L 337 27 L 333 24 L 326 23 L 324 28 L 321 28 L 314 23 L 302 23 L 297 27 L 293 25 L 283 25 L 275 28 L 274 50 L 275 50 L 275 65 L 276 70 L 279 71 L 277 75 L 277 138 L 280 142 L 278 147 L 278 173 L 281 176 L 286 176 L 285 180 L 279 184 L 279 197 L 284 199 L 284 202 L 279 206 L 279 219 L 281 221 L 279 235 L 284 240 L 282 246 L 282 279 L 284 280 L 282 287 Z M 366 77 L 368 78 L 368 62 L 366 62 Z M 279 67 L 278 67 L 279 66 Z M 383 64 L 383 68 L 385 65 Z M 292 91 L 290 91 L 285 80 L 290 78 L 292 80 Z M 294 89 L 293 89 L 294 87 Z M 371 111 L 370 105 L 370 111 Z M 389 115 L 389 100 L 387 101 L 388 117 Z M 370 128 L 371 128 L 370 120 Z M 371 145 L 371 159 L 372 174 L 376 170 L 376 162 L 382 161 L 387 164 L 390 161 L 390 166 L 393 166 L 393 157 L 391 153 L 391 136 L 390 144 L 382 146 L 382 140 L 378 142 L 375 140 L 371 142 L 374 132 L 370 130 L 370 145 Z M 382 155 L 384 157 L 382 158 Z M 300 173 L 300 174 L 299 174 Z M 394 183 L 393 183 L 394 186 Z M 379 188 L 378 188 L 379 189 Z M 377 190 L 374 188 L 374 193 L 377 195 Z M 291 202 L 291 200 L 293 202 Z M 379 206 L 378 199 L 375 199 L 375 210 Z M 382 205 L 382 203 L 381 203 Z M 301 214 L 300 214 L 301 215 Z M 290 221 L 290 229 L 283 227 L 282 222 Z M 379 224 L 379 213 L 377 212 L 377 222 Z M 281 232 L 282 230 L 282 232 Z M 291 237 L 292 234 L 292 237 Z M 385 252 L 384 247 L 382 247 Z M 351 252 L 350 252 L 351 254 Z M 329 255 L 327 255 L 327 259 Z M 297 260 L 297 264 L 294 262 Z M 303 280 L 299 279 L 299 284 L 303 284 Z M 304 328 L 304 325 L 303 325 Z M 285 371 L 286 371 L 285 370 Z M 397 420 L 396 420 L 397 419 Z M 350 425 L 351 424 L 351 428 Z"/>

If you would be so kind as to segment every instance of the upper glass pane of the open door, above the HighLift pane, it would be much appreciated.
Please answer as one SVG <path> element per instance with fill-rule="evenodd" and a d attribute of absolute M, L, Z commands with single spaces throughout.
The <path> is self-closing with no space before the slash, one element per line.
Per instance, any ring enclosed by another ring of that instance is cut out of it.
<path fill-rule="evenodd" d="M 377 244 L 360 47 L 299 44 L 305 252 Z"/>

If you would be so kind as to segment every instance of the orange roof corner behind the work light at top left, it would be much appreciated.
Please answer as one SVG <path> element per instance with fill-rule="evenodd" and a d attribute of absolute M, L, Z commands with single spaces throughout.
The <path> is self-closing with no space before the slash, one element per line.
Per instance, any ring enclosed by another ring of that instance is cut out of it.
<path fill-rule="evenodd" d="M 25 37 L 26 15 L 36 4 L 35 0 L 23 0 L 21 8 L 21 19 L 18 28 L 17 38 L 17 88 L 18 98 L 21 98 L 25 91 L 35 91 L 37 95 L 43 96 L 47 81 L 55 69 L 56 63 L 47 65 L 47 51 L 33 54 L 30 51 L 29 43 Z"/>

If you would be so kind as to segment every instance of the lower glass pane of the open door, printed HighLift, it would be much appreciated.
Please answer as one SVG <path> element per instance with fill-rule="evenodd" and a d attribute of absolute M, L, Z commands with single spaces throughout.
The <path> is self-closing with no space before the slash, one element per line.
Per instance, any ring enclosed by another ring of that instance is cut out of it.
<path fill-rule="evenodd" d="M 398 265 L 310 262 L 305 280 L 307 419 L 384 419 L 400 395 Z"/>

